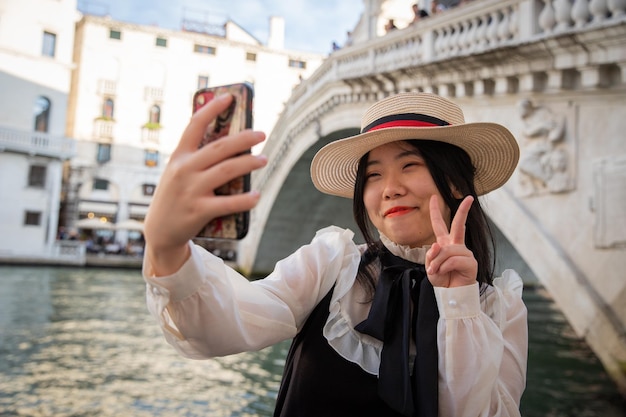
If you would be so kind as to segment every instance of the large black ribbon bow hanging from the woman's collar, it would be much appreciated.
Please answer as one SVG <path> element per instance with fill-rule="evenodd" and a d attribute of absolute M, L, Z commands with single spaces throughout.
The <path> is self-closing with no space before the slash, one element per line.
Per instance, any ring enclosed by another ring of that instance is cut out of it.
<path fill-rule="evenodd" d="M 439 310 L 433 286 L 426 277 L 424 265 L 397 257 L 386 248 L 382 249 L 379 259 L 381 271 L 372 308 L 367 319 L 355 326 L 357 331 L 384 343 L 378 394 L 405 416 L 437 416 Z M 417 350 L 412 375 L 409 368 L 411 333 Z"/>

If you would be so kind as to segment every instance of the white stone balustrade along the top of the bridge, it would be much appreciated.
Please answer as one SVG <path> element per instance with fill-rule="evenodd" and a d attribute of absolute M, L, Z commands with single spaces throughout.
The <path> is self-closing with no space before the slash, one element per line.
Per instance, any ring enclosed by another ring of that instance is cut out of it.
<path fill-rule="evenodd" d="M 333 52 L 309 79 L 294 89 L 263 153 L 275 164 L 280 164 L 281 156 L 287 152 L 286 147 L 295 135 L 290 126 L 295 118 L 304 121 L 298 123 L 298 129 L 302 130 L 307 123 L 314 123 L 314 119 L 321 116 L 320 112 L 332 111 L 336 100 L 359 99 L 338 93 L 342 98 L 335 96 L 312 108 L 315 100 L 319 100 L 320 92 L 330 85 L 358 85 L 354 80 L 374 79 L 381 74 L 407 72 L 455 58 L 510 50 L 558 36 L 623 26 L 624 23 L 626 1 L 474 0 L 407 28 Z M 626 74 L 624 68 L 622 72 Z M 384 83 L 382 78 L 378 77 L 375 82 Z M 358 94 L 358 88 L 347 94 Z M 364 91 L 362 94 L 368 93 Z M 303 111 L 310 114 L 303 115 Z M 253 177 L 253 181 L 262 187 L 271 171 L 266 169 Z"/>

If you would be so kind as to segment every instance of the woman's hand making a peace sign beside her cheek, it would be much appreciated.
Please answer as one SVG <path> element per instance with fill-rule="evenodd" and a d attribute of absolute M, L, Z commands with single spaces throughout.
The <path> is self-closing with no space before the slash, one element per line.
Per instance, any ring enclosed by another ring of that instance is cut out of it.
<path fill-rule="evenodd" d="M 430 221 L 437 241 L 426 252 L 426 273 L 433 287 L 460 287 L 476 282 L 478 262 L 465 246 L 465 222 L 474 202 L 467 196 L 448 226 L 441 216 L 437 196 L 430 198 Z"/>

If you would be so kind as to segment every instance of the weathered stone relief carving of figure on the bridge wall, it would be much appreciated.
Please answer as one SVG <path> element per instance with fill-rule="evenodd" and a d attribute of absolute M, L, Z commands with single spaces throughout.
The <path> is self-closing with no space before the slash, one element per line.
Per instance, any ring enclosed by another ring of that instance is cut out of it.
<path fill-rule="evenodd" d="M 571 189 L 565 149 L 565 119 L 529 99 L 518 103 L 527 139 L 519 163 L 525 195 L 540 191 L 560 193 Z"/>

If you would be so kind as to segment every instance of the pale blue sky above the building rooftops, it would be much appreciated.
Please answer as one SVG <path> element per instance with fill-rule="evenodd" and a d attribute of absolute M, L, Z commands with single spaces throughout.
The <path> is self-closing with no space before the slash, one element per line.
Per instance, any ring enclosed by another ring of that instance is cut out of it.
<path fill-rule="evenodd" d="M 263 44 L 269 19 L 285 19 L 287 49 L 328 53 L 342 45 L 363 11 L 363 0 L 78 0 L 79 10 L 124 22 L 179 30 L 183 18 L 234 21 Z"/>

